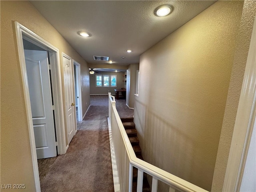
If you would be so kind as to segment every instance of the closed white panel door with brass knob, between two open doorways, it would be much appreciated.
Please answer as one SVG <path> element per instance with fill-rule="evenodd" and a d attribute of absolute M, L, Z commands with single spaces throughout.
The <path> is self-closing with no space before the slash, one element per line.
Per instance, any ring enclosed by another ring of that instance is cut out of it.
<path fill-rule="evenodd" d="M 75 101 L 74 101 L 74 86 L 73 86 L 73 64 L 71 58 L 63 55 L 63 67 L 64 67 L 64 86 L 65 86 L 65 102 L 66 102 L 66 122 L 67 122 L 67 134 L 68 144 L 72 140 L 76 131 L 75 120 Z"/>

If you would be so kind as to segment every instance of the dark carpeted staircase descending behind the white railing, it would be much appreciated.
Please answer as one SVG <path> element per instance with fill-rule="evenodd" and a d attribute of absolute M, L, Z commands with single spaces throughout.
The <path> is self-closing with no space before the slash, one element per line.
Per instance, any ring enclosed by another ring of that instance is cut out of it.
<path fill-rule="evenodd" d="M 128 138 L 132 144 L 132 148 L 134 150 L 134 153 L 136 154 L 136 157 L 143 160 L 142 155 L 141 155 L 141 148 L 139 146 L 140 141 L 137 137 L 137 131 L 135 129 L 135 124 L 133 122 L 133 117 L 132 118 L 121 118 L 121 120 L 124 125 L 126 134 L 128 135 Z M 148 180 L 146 178 L 146 175 L 147 174 L 144 172 L 142 192 L 150 192 L 151 191 Z M 137 177 L 138 177 L 138 169 L 134 167 L 133 168 L 132 192 L 136 192 L 136 190 L 137 190 Z"/>

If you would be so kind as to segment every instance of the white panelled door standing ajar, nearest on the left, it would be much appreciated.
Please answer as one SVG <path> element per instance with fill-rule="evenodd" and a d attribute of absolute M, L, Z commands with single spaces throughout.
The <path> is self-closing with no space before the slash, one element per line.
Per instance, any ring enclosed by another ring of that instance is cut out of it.
<path fill-rule="evenodd" d="M 56 157 L 48 52 L 24 50 L 37 159 Z"/>

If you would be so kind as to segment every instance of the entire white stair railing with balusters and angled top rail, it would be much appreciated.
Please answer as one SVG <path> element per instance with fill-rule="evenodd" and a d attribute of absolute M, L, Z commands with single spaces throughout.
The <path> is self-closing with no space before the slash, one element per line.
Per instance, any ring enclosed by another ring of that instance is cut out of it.
<path fill-rule="evenodd" d="M 112 142 L 116 156 L 116 166 L 121 192 L 132 192 L 133 167 L 138 168 L 137 192 L 142 192 L 144 172 L 152 176 L 152 192 L 157 192 L 158 180 L 170 186 L 169 192 L 175 192 L 175 190 L 184 192 L 207 192 L 207 190 L 203 188 L 137 158 L 116 110 L 115 98 L 111 96 L 111 93 L 108 93 L 108 98 Z"/>

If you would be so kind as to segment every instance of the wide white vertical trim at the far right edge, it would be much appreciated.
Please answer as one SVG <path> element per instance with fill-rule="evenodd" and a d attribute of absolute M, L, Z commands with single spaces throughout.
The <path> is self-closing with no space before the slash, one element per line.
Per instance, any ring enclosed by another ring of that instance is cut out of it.
<path fill-rule="evenodd" d="M 256 19 L 248 52 L 222 191 L 240 191 L 256 116 Z"/>

